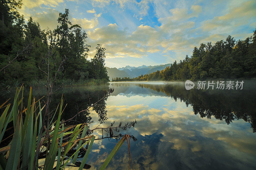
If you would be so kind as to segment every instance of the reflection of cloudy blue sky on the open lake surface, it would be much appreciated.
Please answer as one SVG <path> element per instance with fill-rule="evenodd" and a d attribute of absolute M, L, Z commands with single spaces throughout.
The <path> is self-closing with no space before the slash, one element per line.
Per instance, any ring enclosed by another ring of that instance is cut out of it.
<path fill-rule="evenodd" d="M 101 126 L 108 126 L 114 121 L 117 126 L 121 121 L 137 120 L 134 128 L 121 132 L 130 133 L 138 139 L 131 143 L 134 169 L 256 168 L 256 137 L 250 123 L 234 119 L 227 124 L 224 121 L 226 117 L 219 120 L 218 115 L 212 115 L 211 119 L 201 118 L 202 115 L 194 114 L 195 104 L 187 107 L 186 103 L 177 98 L 176 101 L 175 97 L 171 98 L 168 92 L 164 92 L 166 89 L 157 92 L 153 87 L 136 84 L 114 85 L 114 88 L 114 96 L 106 101 L 108 119 Z M 202 97 L 200 95 L 203 94 L 198 94 Z M 232 108 L 227 103 L 224 105 L 227 108 L 223 110 Z M 95 112 L 91 117 L 94 121 L 90 125 L 92 129 L 99 123 Z M 101 130 L 94 133 L 102 134 Z M 88 162 L 93 165 L 92 169 L 98 169 L 108 154 L 105 157 L 98 155 L 110 153 L 115 143 L 114 139 L 95 143 L 94 152 L 97 154 Z M 124 145 L 107 168 L 127 169 L 128 158 L 127 145 Z"/>

